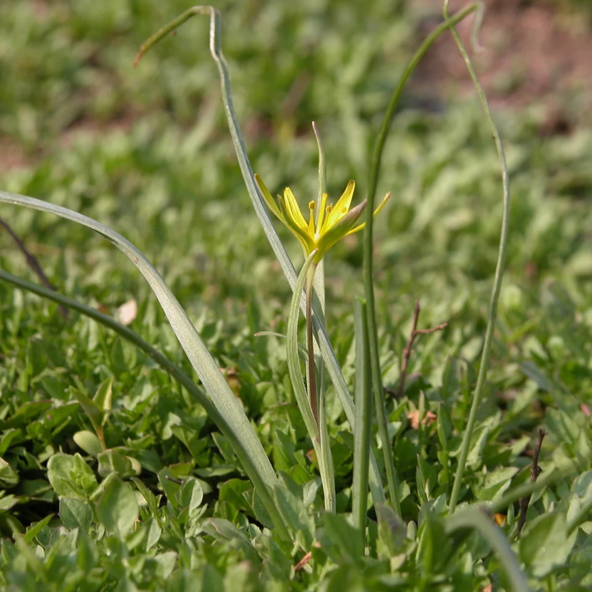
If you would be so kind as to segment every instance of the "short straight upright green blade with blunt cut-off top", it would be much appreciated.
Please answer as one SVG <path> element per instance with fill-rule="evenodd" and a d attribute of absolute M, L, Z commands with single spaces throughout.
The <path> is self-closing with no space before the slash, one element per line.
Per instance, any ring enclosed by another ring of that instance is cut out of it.
<path fill-rule="evenodd" d="M 368 511 L 368 469 L 372 436 L 372 384 L 368 356 L 368 326 L 366 303 L 356 297 L 353 301 L 353 321 L 356 336 L 356 429 L 353 433 L 353 525 L 366 540 L 366 513 Z"/>

